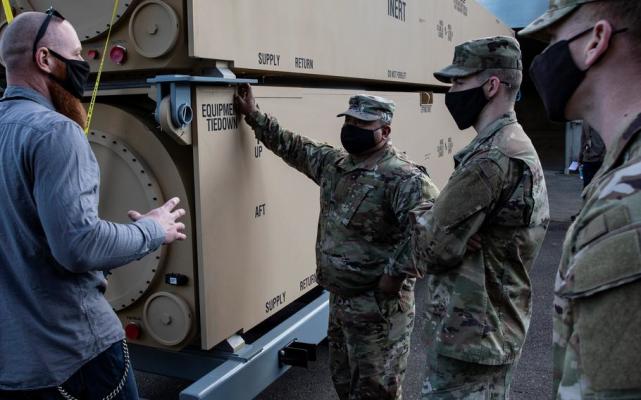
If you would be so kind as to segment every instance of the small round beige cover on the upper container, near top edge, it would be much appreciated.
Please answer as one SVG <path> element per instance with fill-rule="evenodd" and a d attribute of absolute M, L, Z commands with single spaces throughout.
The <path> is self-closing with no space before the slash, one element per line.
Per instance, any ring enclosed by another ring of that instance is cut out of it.
<path fill-rule="evenodd" d="M 176 45 L 179 24 L 178 15 L 170 5 L 157 0 L 145 0 L 131 14 L 129 37 L 142 56 L 161 57 Z"/>

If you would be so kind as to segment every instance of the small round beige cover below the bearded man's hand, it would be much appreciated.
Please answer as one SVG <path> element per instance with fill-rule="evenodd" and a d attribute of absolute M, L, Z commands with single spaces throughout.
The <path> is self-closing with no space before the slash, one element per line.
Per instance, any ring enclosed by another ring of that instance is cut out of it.
<path fill-rule="evenodd" d="M 142 313 L 146 331 L 165 346 L 180 344 L 189 335 L 192 314 L 181 297 L 168 292 L 149 296 Z"/>

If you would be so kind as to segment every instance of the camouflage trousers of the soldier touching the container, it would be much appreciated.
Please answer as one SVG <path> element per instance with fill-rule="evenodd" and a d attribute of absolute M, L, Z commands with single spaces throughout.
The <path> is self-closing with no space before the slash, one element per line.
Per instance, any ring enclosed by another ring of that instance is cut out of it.
<path fill-rule="evenodd" d="M 412 285 L 413 286 L 413 285 Z M 341 400 L 400 400 L 414 326 L 414 290 L 330 295 L 330 369 Z"/>

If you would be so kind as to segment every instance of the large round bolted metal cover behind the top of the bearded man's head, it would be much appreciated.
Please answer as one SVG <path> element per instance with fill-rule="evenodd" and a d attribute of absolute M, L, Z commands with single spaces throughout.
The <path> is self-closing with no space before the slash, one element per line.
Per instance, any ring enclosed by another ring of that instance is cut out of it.
<path fill-rule="evenodd" d="M 116 10 L 114 25 L 122 19 L 135 0 L 121 0 Z M 16 0 L 18 12 L 45 12 L 49 7 L 55 8 L 78 32 L 81 41 L 91 40 L 109 29 L 113 1 L 105 0 Z"/>

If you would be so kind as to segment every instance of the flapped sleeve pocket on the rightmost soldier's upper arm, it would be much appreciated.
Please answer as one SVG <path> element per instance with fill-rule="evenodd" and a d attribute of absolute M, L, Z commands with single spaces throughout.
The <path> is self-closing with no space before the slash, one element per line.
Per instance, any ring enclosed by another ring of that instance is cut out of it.
<path fill-rule="evenodd" d="M 583 372 L 595 391 L 640 386 L 641 236 L 605 234 L 580 250 L 557 295 L 573 302 Z"/>

